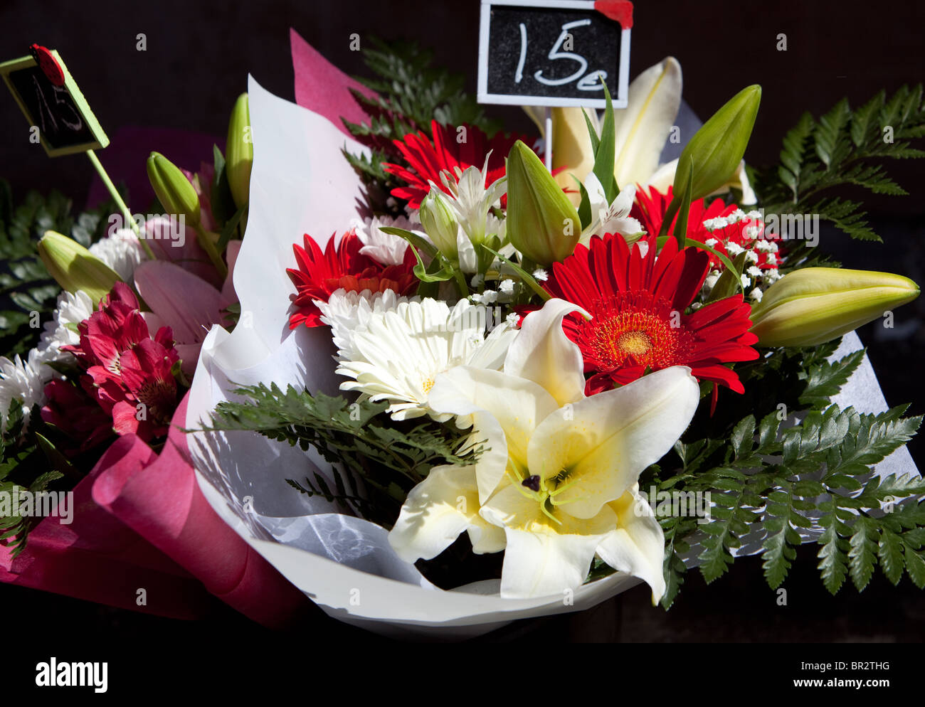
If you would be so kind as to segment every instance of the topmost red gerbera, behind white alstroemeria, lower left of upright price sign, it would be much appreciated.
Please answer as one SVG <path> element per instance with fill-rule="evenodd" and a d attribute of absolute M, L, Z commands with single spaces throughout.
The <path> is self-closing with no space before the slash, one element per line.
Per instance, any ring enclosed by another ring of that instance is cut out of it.
<path fill-rule="evenodd" d="M 488 152 L 491 152 L 491 156 L 488 157 L 485 179 L 487 187 L 500 177 L 504 177 L 504 160 L 508 152 L 511 152 L 514 142 L 524 140 L 530 144 L 530 139 L 525 135 L 499 133 L 488 140 L 488 136 L 482 130 L 472 125 L 461 126 L 466 131 L 465 140 L 458 141 L 456 139 L 458 133 L 455 129 L 445 128 L 436 120 L 431 121 L 430 127 L 434 134 L 433 141 L 427 138 L 424 131 L 410 133 L 404 137 L 404 140 L 395 140 L 395 146 L 408 165 L 411 165 L 411 169 L 389 163 L 382 165 L 389 174 L 408 183 L 407 187 L 392 189 L 392 196 L 408 201 L 413 209 L 420 208 L 421 200 L 430 191 L 430 181 L 433 181 L 440 189 L 447 191 L 440 179 L 441 172 L 446 170 L 450 173 L 450 177 L 455 179 L 456 167 L 461 170 L 472 166 L 482 169 L 485 166 Z M 447 193 L 450 192 L 447 191 Z"/>

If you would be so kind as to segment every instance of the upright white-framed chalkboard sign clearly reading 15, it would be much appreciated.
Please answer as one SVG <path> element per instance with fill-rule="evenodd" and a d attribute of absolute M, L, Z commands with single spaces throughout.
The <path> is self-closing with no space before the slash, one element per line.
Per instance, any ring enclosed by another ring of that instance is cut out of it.
<path fill-rule="evenodd" d="M 626 107 L 627 0 L 482 0 L 478 101 Z"/>

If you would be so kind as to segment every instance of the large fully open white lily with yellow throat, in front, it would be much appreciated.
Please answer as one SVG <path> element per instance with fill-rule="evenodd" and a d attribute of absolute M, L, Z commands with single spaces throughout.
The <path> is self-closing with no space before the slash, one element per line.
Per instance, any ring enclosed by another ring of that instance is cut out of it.
<path fill-rule="evenodd" d="M 586 397 L 581 352 L 561 328 L 572 311 L 586 314 L 550 299 L 528 315 L 503 371 L 460 366 L 437 377 L 431 408 L 471 425 L 483 451 L 418 484 L 389 542 L 414 561 L 467 530 L 475 552 L 497 552 L 493 525 L 504 530 L 501 596 L 573 591 L 598 555 L 645 579 L 657 602 L 663 536 L 653 515 L 635 513 L 636 484 L 693 417 L 697 382 L 673 367 Z"/>

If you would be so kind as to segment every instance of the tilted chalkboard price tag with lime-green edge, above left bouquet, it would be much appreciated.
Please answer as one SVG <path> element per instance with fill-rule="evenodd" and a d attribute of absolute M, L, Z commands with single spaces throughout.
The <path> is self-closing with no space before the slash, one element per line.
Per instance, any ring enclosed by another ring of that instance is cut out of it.
<path fill-rule="evenodd" d="M 0 64 L 0 75 L 48 156 L 105 148 L 109 139 L 61 56 L 38 44 L 31 52 Z"/>

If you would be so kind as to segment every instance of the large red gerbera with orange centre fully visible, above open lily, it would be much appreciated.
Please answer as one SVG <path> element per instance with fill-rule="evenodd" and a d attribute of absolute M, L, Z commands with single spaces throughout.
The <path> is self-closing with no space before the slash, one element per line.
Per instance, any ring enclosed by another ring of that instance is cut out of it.
<path fill-rule="evenodd" d="M 758 358 L 751 347 L 758 337 L 748 332 L 751 308 L 736 295 L 685 313 L 703 286 L 709 255 L 679 251 L 670 238 L 656 257 L 655 238 L 632 250 L 620 235 L 591 238 L 590 248 L 579 245 L 552 265 L 547 291 L 592 316 L 573 315 L 563 323 L 581 349 L 585 371 L 593 372 L 587 395 L 670 366 L 689 366 L 698 380 L 745 392 L 724 364 Z"/>

